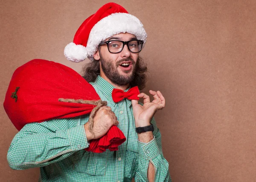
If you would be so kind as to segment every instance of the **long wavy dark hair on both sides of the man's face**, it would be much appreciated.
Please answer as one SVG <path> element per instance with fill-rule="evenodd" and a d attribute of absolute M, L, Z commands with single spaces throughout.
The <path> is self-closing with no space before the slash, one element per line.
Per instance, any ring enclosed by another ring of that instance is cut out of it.
<path fill-rule="evenodd" d="M 136 63 L 134 80 L 130 82 L 130 86 L 138 86 L 140 90 L 145 88 L 147 82 L 146 72 L 148 71 L 147 63 L 139 56 Z M 87 82 L 95 82 L 96 77 L 100 74 L 99 61 L 93 60 L 87 63 L 82 68 L 82 77 Z"/>

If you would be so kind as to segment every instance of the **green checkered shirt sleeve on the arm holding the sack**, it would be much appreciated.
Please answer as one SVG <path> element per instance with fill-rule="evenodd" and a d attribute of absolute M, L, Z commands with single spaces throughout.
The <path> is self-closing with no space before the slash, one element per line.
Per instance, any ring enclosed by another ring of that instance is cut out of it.
<path fill-rule="evenodd" d="M 9 147 L 9 166 L 15 170 L 43 167 L 87 148 L 84 125 L 75 123 L 68 118 L 26 124 Z"/>

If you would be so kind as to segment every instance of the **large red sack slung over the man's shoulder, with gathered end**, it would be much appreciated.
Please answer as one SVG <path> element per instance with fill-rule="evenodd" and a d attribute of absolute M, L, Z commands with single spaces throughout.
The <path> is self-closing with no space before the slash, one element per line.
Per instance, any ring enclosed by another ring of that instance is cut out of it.
<path fill-rule="evenodd" d="M 59 99 L 100 100 L 90 83 L 73 69 L 47 60 L 31 60 L 12 75 L 3 103 L 6 114 L 20 131 L 31 122 L 90 114 L 97 105 L 60 102 Z M 105 102 L 105 101 L 104 101 Z M 61 124 L 61 123 L 60 123 Z M 90 140 L 87 151 L 118 150 L 125 136 L 115 125 L 100 139 Z"/>

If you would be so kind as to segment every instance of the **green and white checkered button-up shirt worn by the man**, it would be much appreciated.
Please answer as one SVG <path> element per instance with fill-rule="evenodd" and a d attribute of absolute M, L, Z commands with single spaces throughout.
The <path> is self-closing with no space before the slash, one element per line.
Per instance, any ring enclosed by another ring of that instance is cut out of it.
<path fill-rule="evenodd" d="M 98 76 L 90 82 L 99 97 L 118 118 L 118 127 L 126 141 L 118 151 L 93 153 L 88 147 L 84 124 L 89 114 L 29 123 L 16 134 L 7 159 L 15 170 L 40 167 L 39 181 L 43 182 L 146 182 L 149 161 L 154 165 L 155 181 L 169 182 L 169 164 L 163 156 L 161 134 L 154 118 L 154 139 L 148 143 L 138 140 L 131 100 L 115 103 L 113 85 Z M 129 88 L 128 88 L 129 89 Z M 128 91 L 128 89 L 126 91 Z"/>

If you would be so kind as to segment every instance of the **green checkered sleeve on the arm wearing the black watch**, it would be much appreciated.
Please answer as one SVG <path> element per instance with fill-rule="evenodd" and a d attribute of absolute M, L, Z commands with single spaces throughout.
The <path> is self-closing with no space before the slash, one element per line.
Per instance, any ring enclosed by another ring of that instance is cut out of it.
<path fill-rule="evenodd" d="M 171 176 L 169 173 L 169 163 L 163 156 L 162 151 L 162 139 L 161 133 L 157 128 L 154 117 L 151 119 L 151 123 L 154 126 L 154 139 L 148 143 L 138 142 L 138 168 L 135 173 L 135 181 L 148 182 L 147 172 L 149 161 L 154 165 L 155 182 L 171 182 Z"/>

